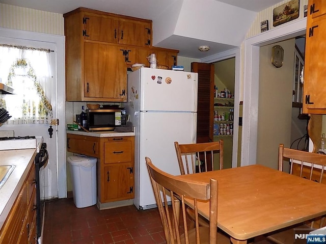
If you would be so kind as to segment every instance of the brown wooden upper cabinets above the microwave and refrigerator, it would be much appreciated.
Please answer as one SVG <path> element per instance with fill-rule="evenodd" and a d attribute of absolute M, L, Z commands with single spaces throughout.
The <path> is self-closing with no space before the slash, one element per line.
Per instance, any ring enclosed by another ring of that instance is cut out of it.
<path fill-rule="evenodd" d="M 127 69 L 135 63 L 171 69 L 178 50 L 152 46 L 152 20 L 78 8 L 63 15 L 66 36 L 66 100 L 127 101 Z"/>

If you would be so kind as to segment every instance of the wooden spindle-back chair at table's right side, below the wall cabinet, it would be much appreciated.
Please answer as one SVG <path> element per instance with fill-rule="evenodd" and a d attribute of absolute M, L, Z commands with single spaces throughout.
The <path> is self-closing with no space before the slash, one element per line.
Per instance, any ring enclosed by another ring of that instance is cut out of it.
<path fill-rule="evenodd" d="M 285 159 L 290 160 L 290 174 L 319 183 L 322 183 L 322 180 L 324 180 L 324 183 L 326 183 L 326 176 L 324 175 L 324 172 L 326 172 L 324 170 L 326 167 L 326 155 L 285 148 L 283 144 L 280 144 L 279 171 L 283 171 L 283 161 Z M 271 233 L 265 237 L 275 243 L 294 243 L 294 228 L 321 228 L 325 225 L 325 216 L 323 216 L 307 223 Z"/>

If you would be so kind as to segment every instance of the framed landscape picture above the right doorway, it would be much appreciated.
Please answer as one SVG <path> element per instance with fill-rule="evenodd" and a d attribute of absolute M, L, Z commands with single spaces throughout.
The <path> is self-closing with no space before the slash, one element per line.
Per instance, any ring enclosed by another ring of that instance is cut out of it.
<path fill-rule="evenodd" d="M 273 26 L 284 24 L 299 17 L 299 0 L 291 0 L 273 10 Z"/>

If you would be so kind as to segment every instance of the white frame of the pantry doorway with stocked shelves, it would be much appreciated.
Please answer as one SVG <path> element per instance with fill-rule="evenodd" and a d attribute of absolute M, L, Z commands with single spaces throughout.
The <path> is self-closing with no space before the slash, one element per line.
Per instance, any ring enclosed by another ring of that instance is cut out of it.
<path fill-rule="evenodd" d="M 232 168 L 237 167 L 237 151 L 238 151 L 238 131 L 239 131 L 239 103 L 241 97 L 240 86 L 240 70 L 242 70 L 240 62 L 240 48 L 234 48 L 228 51 L 218 53 L 201 59 L 201 63 L 216 63 L 218 61 L 235 58 L 235 76 L 234 76 L 234 119 L 233 119 L 233 141 L 232 141 Z"/>

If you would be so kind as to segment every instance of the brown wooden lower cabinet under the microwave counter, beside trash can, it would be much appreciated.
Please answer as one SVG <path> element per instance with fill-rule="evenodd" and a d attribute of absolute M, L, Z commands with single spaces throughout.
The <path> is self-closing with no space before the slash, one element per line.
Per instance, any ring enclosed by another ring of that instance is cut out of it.
<path fill-rule="evenodd" d="M 68 152 L 97 157 L 100 203 L 134 198 L 134 137 L 98 138 L 68 133 L 67 144 Z"/>

